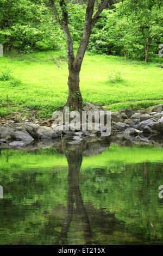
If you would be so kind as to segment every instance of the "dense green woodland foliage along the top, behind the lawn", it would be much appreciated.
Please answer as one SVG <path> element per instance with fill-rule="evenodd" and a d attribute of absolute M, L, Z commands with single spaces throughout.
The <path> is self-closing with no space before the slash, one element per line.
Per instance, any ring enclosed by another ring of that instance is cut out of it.
<path fill-rule="evenodd" d="M 83 33 L 85 1 L 68 1 L 69 28 L 73 42 Z M 39 41 L 55 50 L 64 34 L 48 8 L 48 1 L 2 0 L 0 3 L 0 41 L 5 53 L 11 48 L 27 51 Z M 89 50 L 115 54 L 127 59 L 145 59 L 158 55 L 163 42 L 163 3 L 161 0 L 125 0 L 104 10 L 107 19 L 99 19 L 93 28 Z"/>

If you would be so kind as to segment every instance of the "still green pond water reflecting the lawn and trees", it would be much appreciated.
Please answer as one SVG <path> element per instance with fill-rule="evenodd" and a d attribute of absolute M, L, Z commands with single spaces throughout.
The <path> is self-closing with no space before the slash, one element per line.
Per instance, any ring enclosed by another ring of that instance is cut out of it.
<path fill-rule="evenodd" d="M 0 244 L 162 245 L 162 174 L 154 146 L 1 149 Z"/>

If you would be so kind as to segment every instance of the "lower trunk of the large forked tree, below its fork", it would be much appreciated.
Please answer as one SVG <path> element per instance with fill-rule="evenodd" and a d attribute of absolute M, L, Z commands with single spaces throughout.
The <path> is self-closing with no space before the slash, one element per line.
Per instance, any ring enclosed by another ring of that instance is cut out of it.
<path fill-rule="evenodd" d="M 79 87 L 79 73 L 80 70 L 73 70 L 69 68 L 68 76 L 68 99 L 66 107 L 73 107 L 73 110 L 79 111 L 82 109 L 82 94 Z"/>

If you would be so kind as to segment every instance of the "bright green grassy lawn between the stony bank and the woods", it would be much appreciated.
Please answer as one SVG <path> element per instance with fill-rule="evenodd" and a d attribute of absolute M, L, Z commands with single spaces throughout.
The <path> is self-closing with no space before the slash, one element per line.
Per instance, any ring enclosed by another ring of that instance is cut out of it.
<path fill-rule="evenodd" d="M 61 59 L 61 68 L 49 54 Z M 11 75 L 22 83 L 0 81 L 0 115 L 30 108 L 37 109 L 40 117 L 45 117 L 64 106 L 68 92 L 65 55 L 63 49 L 60 52 L 21 54 L 15 58 L 1 57 L 0 68 L 5 70 L 4 65 L 11 66 Z M 83 102 L 99 103 L 112 111 L 121 107 L 140 109 L 163 103 L 163 70 L 156 67 L 162 62 L 162 58 L 149 64 L 125 62 L 122 57 L 86 52 L 80 74 Z M 109 82 L 108 72 L 112 70 L 122 70 L 121 82 Z"/>

